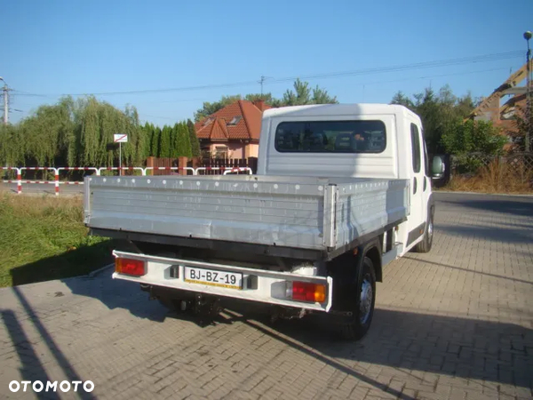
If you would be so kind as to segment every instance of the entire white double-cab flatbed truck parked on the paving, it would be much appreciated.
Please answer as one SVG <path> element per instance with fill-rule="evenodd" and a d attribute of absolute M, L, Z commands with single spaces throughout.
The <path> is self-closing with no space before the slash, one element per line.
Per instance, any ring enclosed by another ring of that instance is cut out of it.
<path fill-rule="evenodd" d="M 385 265 L 431 249 L 429 169 L 408 108 L 274 108 L 256 175 L 87 177 L 84 222 L 133 244 L 114 252 L 113 277 L 167 306 L 259 302 L 276 316 L 322 313 L 359 339 Z"/>

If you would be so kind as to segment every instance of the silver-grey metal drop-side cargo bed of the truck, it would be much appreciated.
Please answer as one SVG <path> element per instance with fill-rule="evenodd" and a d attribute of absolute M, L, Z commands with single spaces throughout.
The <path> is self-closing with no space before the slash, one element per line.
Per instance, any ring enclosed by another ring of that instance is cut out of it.
<path fill-rule="evenodd" d="M 291 176 L 85 178 L 95 230 L 330 252 L 405 220 L 408 180 Z"/>

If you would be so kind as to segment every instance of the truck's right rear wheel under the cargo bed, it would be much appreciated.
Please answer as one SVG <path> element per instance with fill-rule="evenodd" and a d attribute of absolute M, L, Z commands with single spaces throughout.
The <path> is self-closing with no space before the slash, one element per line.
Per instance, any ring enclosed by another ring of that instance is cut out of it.
<path fill-rule="evenodd" d="M 355 284 L 352 320 L 341 326 L 341 333 L 344 339 L 360 340 L 370 329 L 370 323 L 374 316 L 374 305 L 376 304 L 376 272 L 372 260 L 365 257 L 362 260 L 362 274 L 359 282 Z"/>

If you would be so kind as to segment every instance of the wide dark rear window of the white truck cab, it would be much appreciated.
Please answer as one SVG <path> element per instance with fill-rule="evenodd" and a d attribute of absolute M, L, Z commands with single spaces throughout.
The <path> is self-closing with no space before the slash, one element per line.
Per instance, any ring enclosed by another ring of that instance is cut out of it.
<path fill-rule="evenodd" d="M 274 148 L 281 153 L 381 153 L 383 121 L 295 121 L 277 125 Z"/>

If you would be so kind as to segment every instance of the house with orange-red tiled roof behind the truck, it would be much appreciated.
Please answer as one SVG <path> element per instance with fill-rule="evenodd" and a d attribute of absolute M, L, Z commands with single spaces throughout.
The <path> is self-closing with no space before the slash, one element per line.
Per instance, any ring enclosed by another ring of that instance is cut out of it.
<path fill-rule="evenodd" d="M 238 100 L 195 124 L 203 151 L 221 158 L 257 157 L 263 100 Z"/>

